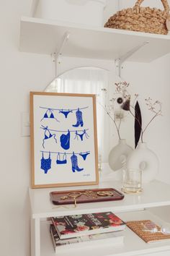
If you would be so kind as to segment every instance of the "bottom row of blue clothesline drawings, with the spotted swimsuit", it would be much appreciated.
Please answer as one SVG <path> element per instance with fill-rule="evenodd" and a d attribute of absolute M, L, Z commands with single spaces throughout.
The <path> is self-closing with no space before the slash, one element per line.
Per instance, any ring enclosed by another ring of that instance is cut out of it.
<path fill-rule="evenodd" d="M 80 155 L 84 161 L 86 161 L 87 155 L 90 154 L 90 151 L 86 151 L 84 153 L 62 153 L 62 152 L 54 152 L 54 151 L 40 151 L 42 153 L 42 158 L 40 160 L 40 168 L 45 172 L 45 174 L 48 173 L 48 170 L 51 168 L 51 162 L 52 159 L 50 158 L 51 154 L 57 154 L 56 164 L 66 164 L 67 163 L 67 155 L 71 155 L 71 168 L 72 171 L 83 171 L 84 168 L 79 168 L 78 166 L 78 158 L 77 155 Z M 48 158 L 44 158 L 44 153 L 48 153 Z M 63 155 L 63 158 L 61 158 L 61 155 Z"/>

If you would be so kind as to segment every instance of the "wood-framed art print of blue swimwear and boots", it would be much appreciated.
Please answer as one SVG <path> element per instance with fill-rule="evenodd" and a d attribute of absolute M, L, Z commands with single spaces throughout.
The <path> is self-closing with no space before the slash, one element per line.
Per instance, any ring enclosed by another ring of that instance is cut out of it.
<path fill-rule="evenodd" d="M 98 184 L 96 98 L 30 93 L 32 188 Z"/>

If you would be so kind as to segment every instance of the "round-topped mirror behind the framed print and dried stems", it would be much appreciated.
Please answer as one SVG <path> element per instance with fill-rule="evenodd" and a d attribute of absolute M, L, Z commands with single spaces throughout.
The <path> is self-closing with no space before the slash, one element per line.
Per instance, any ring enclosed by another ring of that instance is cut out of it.
<path fill-rule="evenodd" d="M 99 161 L 102 163 L 108 162 L 109 152 L 117 145 L 119 140 L 117 129 L 115 128 L 115 121 L 117 122 L 117 127 L 120 129 L 121 138 L 127 139 L 128 144 L 131 144 L 133 141 L 132 116 L 128 115 L 128 111 L 123 111 L 120 108 L 120 95 L 119 93 L 115 93 L 115 82 L 120 81 L 120 78 L 114 74 L 111 76 L 110 73 L 106 69 L 98 67 L 71 69 L 53 80 L 45 89 L 46 92 L 53 93 L 85 93 L 97 95 L 97 138 Z M 114 111 L 112 109 L 113 99 L 116 99 L 114 104 L 117 104 L 114 106 Z M 110 113 L 112 112 L 113 115 L 116 113 L 117 117 L 110 116 L 108 111 Z"/>

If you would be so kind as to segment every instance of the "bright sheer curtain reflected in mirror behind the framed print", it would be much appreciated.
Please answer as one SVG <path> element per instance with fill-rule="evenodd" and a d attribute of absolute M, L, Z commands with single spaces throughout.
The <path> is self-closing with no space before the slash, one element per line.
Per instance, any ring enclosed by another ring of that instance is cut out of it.
<path fill-rule="evenodd" d="M 110 148 L 110 120 L 104 111 L 106 97 L 104 93 L 102 93 L 103 88 L 109 90 L 109 75 L 106 69 L 80 67 L 61 74 L 48 85 L 45 91 L 53 93 L 85 93 L 97 95 L 98 150 L 102 162 L 107 162 Z"/>

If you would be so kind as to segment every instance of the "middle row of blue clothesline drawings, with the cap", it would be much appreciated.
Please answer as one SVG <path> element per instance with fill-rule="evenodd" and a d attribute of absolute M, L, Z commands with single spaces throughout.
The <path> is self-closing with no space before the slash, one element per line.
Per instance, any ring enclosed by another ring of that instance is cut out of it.
<path fill-rule="evenodd" d="M 44 130 L 44 138 L 42 140 L 42 147 L 43 148 L 45 148 L 45 140 L 48 140 L 51 137 L 53 137 L 53 139 L 55 140 L 55 143 L 57 143 L 57 139 L 56 139 L 55 133 L 58 133 L 58 132 L 67 132 L 67 134 L 62 134 L 61 137 L 60 137 L 61 147 L 63 149 L 65 149 L 65 150 L 68 150 L 70 148 L 71 132 L 75 133 L 75 135 L 76 135 L 74 137 L 74 140 L 75 139 L 79 140 L 79 138 L 80 138 L 80 140 L 83 141 L 84 140 L 84 136 L 86 137 L 86 139 L 89 139 L 89 135 L 86 132 L 89 129 L 55 130 L 55 129 L 49 129 L 48 126 L 44 127 L 43 125 L 41 125 L 40 129 Z"/>

